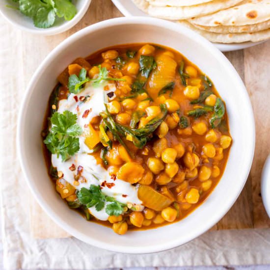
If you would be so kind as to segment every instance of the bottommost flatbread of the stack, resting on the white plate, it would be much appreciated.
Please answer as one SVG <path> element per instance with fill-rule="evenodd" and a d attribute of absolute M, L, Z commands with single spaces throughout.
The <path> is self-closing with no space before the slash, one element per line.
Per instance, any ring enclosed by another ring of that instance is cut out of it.
<path fill-rule="evenodd" d="M 177 23 L 190 28 L 191 30 L 207 38 L 209 41 L 217 43 L 241 43 L 247 41 L 257 42 L 270 38 L 270 28 L 253 33 L 220 34 L 198 29 L 192 24 L 190 24 L 188 21 L 178 21 Z"/>

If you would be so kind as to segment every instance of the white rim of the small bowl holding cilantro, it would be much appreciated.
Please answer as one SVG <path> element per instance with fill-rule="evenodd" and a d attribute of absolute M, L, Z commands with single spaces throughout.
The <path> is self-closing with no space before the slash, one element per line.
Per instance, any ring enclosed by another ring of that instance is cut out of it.
<path fill-rule="evenodd" d="M 59 25 L 57 27 L 49 27 L 49 28 L 38 28 L 38 27 L 36 27 L 36 28 L 30 29 L 28 27 L 25 27 L 25 26 L 20 25 L 19 23 L 15 22 L 15 21 L 13 21 L 11 18 L 6 16 L 5 12 L 3 12 L 3 10 L 1 10 L 1 9 L 0 9 L 0 15 L 2 15 L 3 18 L 8 23 L 10 23 L 14 27 L 19 28 L 19 29 L 21 29 L 23 31 L 30 32 L 32 34 L 50 36 L 50 35 L 56 35 L 56 34 L 65 32 L 68 29 L 70 29 L 71 27 L 77 25 L 81 21 L 81 18 L 84 16 L 84 14 L 87 12 L 90 3 L 91 3 L 91 0 L 83 0 L 83 5 L 82 5 L 81 9 L 78 10 L 78 12 L 74 16 L 74 18 L 71 19 L 70 21 L 63 22 L 61 25 Z"/>

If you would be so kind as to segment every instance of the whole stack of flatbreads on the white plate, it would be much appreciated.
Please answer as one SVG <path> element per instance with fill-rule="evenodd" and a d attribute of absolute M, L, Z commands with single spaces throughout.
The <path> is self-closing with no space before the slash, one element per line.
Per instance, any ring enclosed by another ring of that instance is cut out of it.
<path fill-rule="evenodd" d="M 217 43 L 270 38 L 270 0 L 133 0 L 150 16 L 172 20 Z"/>

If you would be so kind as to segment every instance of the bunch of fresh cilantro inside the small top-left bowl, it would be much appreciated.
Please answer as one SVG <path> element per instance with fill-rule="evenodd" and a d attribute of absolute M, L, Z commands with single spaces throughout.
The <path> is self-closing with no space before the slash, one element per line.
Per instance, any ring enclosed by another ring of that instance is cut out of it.
<path fill-rule="evenodd" d="M 55 17 L 70 21 L 77 13 L 71 0 L 13 0 L 18 9 L 32 18 L 35 27 L 49 28 L 54 25 Z"/>

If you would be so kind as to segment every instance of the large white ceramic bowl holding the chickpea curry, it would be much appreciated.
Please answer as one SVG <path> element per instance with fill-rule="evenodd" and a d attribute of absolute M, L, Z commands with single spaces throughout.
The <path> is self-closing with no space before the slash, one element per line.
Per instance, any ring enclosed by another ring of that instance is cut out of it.
<path fill-rule="evenodd" d="M 111 228 L 86 222 L 70 210 L 47 174 L 42 130 L 47 101 L 58 74 L 76 57 L 111 45 L 152 42 L 171 47 L 195 63 L 215 83 L 226 102 L 233 145 L 224 175 L 207 200 L 183 220 L 157 229 L 119 236 Z M 192 240 L 226 214 L 240 194 L 251 166 L 255 126 L 248 94 L 239 75 L 209 41 L 185 27 L 156 18 L 117 18 L 86 27 L 57 46 L 33 75 L 18 121 L 19 158 L 35 198 L 64 230 L 86 243 L 126 253 L 150 253 Z"/>

